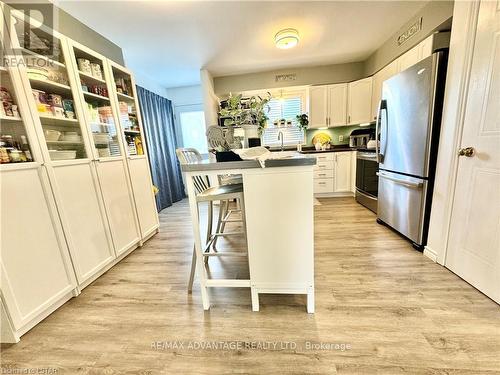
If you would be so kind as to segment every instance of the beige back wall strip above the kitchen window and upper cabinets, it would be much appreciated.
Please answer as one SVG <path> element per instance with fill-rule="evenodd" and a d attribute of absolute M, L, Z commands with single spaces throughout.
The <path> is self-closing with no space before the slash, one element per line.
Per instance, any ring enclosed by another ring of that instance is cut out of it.
<path fill-rule="evenodd" d="M 229 92 L 349 82 L 363 78 L 363 73 L 364 65 L 361 62 L 290 68 L 268 72 L 215 77 L 214 87 L 215 93 L 218 96 L 224 96 Z M 296 74 L 296 80 L 276 82 L 276 75 L 278 74 Z"/>

